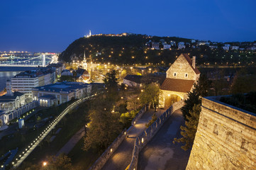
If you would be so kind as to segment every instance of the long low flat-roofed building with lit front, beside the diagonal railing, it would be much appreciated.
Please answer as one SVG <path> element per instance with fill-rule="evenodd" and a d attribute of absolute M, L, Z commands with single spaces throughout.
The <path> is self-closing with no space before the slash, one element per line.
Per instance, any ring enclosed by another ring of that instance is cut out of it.
<path fill-rule="evenodd" d="M 91 94 L 91 84 L 66 82 L 38 86 L 32 89 L 33 100 L 40 106 L 55 106 Z"/>

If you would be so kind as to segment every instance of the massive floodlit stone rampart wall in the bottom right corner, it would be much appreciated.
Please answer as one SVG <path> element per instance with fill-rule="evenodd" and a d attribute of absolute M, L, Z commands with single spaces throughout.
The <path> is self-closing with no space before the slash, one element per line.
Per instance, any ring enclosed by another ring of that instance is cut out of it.
<path fill-rule="evenodd" d="M 256 115 L 202 98 L 187 170 L 256 169 Z"/>

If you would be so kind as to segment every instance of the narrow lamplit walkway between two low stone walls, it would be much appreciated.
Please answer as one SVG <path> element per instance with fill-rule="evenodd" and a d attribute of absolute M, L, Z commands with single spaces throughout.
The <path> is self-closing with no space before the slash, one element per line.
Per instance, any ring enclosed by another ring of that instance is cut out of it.
<path fill-rule="evenodd" d="M 158 110 L 156 115 L 159 117 L 165 110 Z M 131 156 L 133 154 L 133 145 L 135 138 L 140 135 L 143 130 L 145 130 L 145 124 L 151 119 L 154 110 L 144 113 L 144 115 L 136 121 L 135 126 L 128 133 L 128 138 L 121 143 L 121 145 L 116 149 L 116 152 L 108 159 L 108 162 L 104 165 L 102 170 L 124 170 L 130 164 Z"/>

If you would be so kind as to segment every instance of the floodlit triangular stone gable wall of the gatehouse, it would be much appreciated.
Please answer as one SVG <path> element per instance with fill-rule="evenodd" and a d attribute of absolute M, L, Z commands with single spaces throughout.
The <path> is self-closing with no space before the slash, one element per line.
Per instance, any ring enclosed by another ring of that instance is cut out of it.
<path fill-rule="evenodd" d="M 176 73 L 176 77 L 174 76 L 174 73 Z M 180 55 L 172 66 L 169 67 L 166 74 L 166 78 L 196 80 L 196 73 L 182 55 Z M 187 78 L 185 77 L 185 74 L 187 74 Z"/>

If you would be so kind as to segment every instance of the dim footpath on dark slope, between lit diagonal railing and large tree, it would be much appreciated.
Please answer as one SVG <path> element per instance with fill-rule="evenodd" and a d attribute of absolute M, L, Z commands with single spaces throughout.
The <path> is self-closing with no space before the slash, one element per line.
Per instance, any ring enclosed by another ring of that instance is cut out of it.
<path fill-rule="evenodd" d="M 68 154 L 73 147 L 81 140 L 82 137 L 85 135 L 84 127 L 81 128 L 76 134 L 74 134 L 71 139 L 60 149 L 59 152 L 57 152 L 57 156 L 59 156 L 62 153 Z"/>

